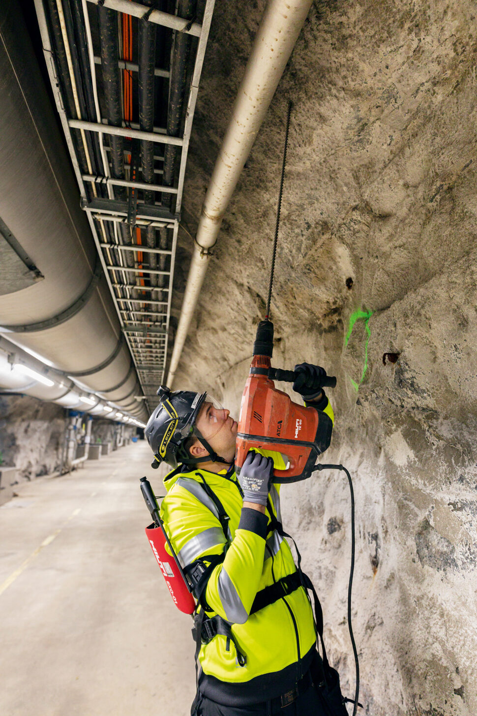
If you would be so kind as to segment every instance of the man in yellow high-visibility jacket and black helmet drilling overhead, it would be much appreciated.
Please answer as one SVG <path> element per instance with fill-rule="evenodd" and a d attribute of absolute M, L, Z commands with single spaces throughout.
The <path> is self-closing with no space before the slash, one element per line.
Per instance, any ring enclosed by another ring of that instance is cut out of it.
<path fill-rule="evenodd" d="M 333 427 L 326 372 L 306 363 L 295 371 L 294 390 L 320 412 L 325 450 Z M 274 467 L 287 467 L 282 455 L 250 451 L 237 478 L 230 411 L 205 392 L 157 393 L 145 433 L 155 459 L 174 468 L 161 516 L 185 571 L 202 569 L 192 716 L 328 715 L 313 611 L 272 483 Z"/>

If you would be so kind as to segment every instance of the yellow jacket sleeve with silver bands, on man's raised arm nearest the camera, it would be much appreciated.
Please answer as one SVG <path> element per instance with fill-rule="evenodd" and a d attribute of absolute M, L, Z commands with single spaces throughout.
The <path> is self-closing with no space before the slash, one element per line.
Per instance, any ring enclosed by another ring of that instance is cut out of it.
<path fill-rule="evenodd" d="M 197 487 L 202 490 L 200 485 Z M 227 548 L 220 521 L 201 502 L 202 495 L 197 495 L 176 484 L 162 500 L 167 534 L 182 566 L 198 558 L 207 561 L 207 555 L 225 551 L 224 561 L 210 575 L 205 600 L 223 619 L 243 624 L 250 614 L 262 576 L 267 516 L 242 508 L 239 526 Z M 207 499 L 207 495 L 202 499 Z"/>

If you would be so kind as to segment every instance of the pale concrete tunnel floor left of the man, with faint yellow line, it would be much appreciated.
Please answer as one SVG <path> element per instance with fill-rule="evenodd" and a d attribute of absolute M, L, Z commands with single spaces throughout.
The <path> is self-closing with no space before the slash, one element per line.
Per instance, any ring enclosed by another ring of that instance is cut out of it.
<path fill-rule="evenodd" d="M 145 442 L 0 508 L 0 714 L 187 716 L 192 619 L 170 599 L 139 490 Z"/>

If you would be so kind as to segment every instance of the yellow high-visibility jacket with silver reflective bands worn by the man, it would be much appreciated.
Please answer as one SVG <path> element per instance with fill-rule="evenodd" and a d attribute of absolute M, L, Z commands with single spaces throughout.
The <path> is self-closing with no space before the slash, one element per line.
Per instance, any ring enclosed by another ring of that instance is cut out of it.
<path fill-rule="evenodd" d="M 333 421 L 329 402 L 323 412 Z M 271 456 L 275 468 L 285 469 L 280 453 L 260 453 Z M 268 510 L 263 515 L 242 508 L 235 472 L 210 473 L 200 467 L 186 470 L 164 478 L 167 495 L 162 500 L 161 517 L 183 567 L 226 551 L 207 583 L 205 600 L 213 611 L 206 614 L 218 614 L 231 625 L 237 647 L 246 657 L 240 666 L 233 640 L 222 634 L 202 644 L 200 690 L 228 705 L 274 698 L 295 686 L 315 652 L 313 611 L 302 586 L 250 615 L 258 591 L 296 571 L 290 546 L 271 529 Z M 202 480 L 230 518 L 227 540 Z M 272 485 L 269 496 L 272 511 L 281 522 L 279 490 L 280 485 Z"/>

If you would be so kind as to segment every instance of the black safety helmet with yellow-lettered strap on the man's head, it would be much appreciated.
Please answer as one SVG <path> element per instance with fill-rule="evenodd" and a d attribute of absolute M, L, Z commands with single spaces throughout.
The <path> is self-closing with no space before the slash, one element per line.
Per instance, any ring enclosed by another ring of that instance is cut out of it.
<path fill-rule="evenodd" d="M 154 453 L 153 468 L 158 468 L 162 462 L 168 463 L 173 469 L 180 463 L 195 465 L 205 460 L 227 464 L 226 460 L 212 450 L 195 427 L 195 420 L 205 402 L 207 392 L 196 393 L 190 390 L 171 392 L 167 386 L 161 385 L 157 395 L 159 405 L 152 412 L 144 429 L 144 435 Z M 185 442 L 192 436 L 197 437 L 209 451 L 209 455 L 205 458 L 192 460 L 187 452 Z"/>

